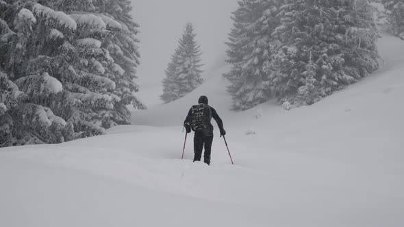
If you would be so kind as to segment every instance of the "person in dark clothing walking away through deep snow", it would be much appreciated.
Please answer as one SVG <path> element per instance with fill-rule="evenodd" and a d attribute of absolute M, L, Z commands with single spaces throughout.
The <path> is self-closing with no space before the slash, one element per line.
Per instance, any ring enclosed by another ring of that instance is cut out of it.
<path fill-rule="evenodd" d="M 201 96 L 198 100 L 198 105 L 191 107 L 188 115 L 184 121 L 186 132 L 190 133 L 191 129 L 194 131 L 194 161 L 201 161 L 202 150 L 205 146 L 205 153 L 203 154 L 203 161 L 210 165 L 210 151 L 213 142 L 213 125 L 210 120 L 216 120 L 220 130 L 220 137 L 226 135 L 223 129 L 223 122 L 218 116 L 216 110 L 207 105 L 207 97 Z"/>

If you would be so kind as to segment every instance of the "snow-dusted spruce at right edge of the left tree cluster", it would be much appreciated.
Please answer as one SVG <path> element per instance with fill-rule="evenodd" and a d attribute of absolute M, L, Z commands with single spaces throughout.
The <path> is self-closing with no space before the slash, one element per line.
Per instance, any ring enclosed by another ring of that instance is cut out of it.
<path fill-rule="evenodd" d="M 108 60 L 100 63 L 104 68 L 103 77 L 111 79 L 116 85 L 112 91 L 115 97 L 114 108 L 103 111 L 103 127 L 130 124 L 131 114 L 127 105 L 138 109 L 146 108 L 135 96 L 138 85 L 134 79 L 140 55 L 136 38 L 138 24 L 131 18 L 130 1 L 61 0 L 57 5 L 65 12 L 81 15 L 81 18 L 102 19 L 106 32 L 97 39 L 101 41 L 101 49 L 108 50 L 108 58 L 113 62 Z"/>

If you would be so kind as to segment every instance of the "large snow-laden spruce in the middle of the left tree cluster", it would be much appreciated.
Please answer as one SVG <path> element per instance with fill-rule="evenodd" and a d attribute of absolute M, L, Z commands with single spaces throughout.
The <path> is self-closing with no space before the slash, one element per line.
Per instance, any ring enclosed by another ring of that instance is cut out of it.
<path fill-rule="evenodd" d="M 33 34 L 38 44 L 27 70 L 49 73 L 63 85 L 60 94 L 48 96 L 45 106 L 74 129 L 65 139 L 105 133 L 103 126 L 109 124 L 105 111 L 116 101 L 110 93 L 114 82 L 103 76 L 101 64 L 112 62 L 108 51 L 101 49 L 105 23 L 97 16 L 68 15 L 38 3 L 32 10 L 38 20 Z"/>

